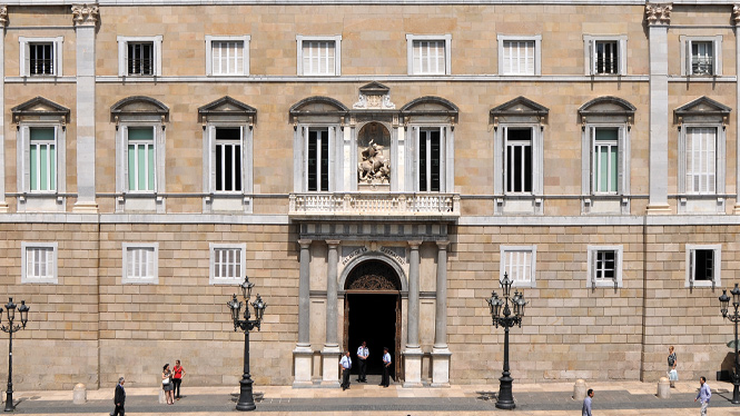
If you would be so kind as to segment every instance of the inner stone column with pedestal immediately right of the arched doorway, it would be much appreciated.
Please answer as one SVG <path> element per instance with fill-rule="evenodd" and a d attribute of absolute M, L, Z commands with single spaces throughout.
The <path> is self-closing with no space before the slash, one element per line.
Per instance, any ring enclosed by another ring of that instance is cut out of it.
<path fill-rule="evenodd" d="M 418 246 L 422 241 L 408 241 L 408 326 L 404 350 L 404 387 L 422 386 L 422 348 L 418 345 Z"/>

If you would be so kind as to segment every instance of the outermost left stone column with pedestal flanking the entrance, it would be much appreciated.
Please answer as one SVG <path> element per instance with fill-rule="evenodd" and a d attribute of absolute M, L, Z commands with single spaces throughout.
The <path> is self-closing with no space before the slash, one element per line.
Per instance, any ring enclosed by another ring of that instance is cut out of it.
<path fill-rule="evenodd" d="M 293 350 L 295 379 L 293 387 L 313 386 L 310 349 L 310 240 L 300 239 L 300 267 L 298 278 L 298 344 Z"/>

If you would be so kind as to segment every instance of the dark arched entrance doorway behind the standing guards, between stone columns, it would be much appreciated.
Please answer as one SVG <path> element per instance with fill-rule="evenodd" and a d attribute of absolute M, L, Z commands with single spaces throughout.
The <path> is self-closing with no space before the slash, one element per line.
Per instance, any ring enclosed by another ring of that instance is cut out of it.
<path fill-rule="evenodd" d="M 367 341 L 367 374 L 383 373 L 383 348 L 394 366 L 391 376 L 403 378 L 401 367 L 401 279 L 388 264 L 366 260 L 347 275 L 344 295 L 344 349 L 357 359 L 357 347 Z M 356 374 L 358 366 L 354 366 Z"/>

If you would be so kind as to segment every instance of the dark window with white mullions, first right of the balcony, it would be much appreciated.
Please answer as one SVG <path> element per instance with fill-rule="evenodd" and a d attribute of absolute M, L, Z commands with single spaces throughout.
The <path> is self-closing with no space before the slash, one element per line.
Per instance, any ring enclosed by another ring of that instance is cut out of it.
<path fill-rule="evenodd" d="M 506 194 L 532 192 L 532 129 L 504 128 Z"/>

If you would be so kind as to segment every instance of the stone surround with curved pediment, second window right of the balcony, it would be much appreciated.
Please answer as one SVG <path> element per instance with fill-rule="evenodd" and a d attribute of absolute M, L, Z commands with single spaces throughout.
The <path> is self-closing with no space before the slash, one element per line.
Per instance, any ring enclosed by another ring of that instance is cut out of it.
<path fill-rule="evenodd" d="M 630 133 L 637 108 L 618 97 L 599 97 L 579 108 L 581 120 L 581 214 L 630 214 Z M 618 192 L 594 194 L 593 142 L 594 128 L 619 129 Z"/>

